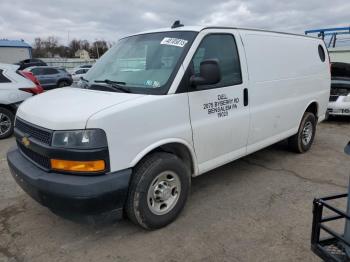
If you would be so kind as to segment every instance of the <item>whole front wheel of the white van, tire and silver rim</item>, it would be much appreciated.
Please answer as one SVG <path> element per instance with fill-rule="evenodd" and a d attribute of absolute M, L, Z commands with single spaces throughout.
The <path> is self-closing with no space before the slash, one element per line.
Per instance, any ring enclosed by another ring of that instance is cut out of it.
<path fill-rule="evenodd" d="M 129 219 L 146 229 L 168 225 L 185 206 L 190 184 L 190 170 L 177 156 L 147 156 L 134 170 L 126 204 Z"/>

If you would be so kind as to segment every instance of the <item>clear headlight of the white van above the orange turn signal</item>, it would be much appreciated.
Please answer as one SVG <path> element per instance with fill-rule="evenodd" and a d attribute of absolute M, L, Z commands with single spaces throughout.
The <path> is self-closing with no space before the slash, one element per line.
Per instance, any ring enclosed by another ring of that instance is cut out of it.
<path fill-rule="evenodd" d="M 55 131 L 52 146 L 75 149 L 102 148 L 107 147 L 107 137 L 101 129 Z"/>

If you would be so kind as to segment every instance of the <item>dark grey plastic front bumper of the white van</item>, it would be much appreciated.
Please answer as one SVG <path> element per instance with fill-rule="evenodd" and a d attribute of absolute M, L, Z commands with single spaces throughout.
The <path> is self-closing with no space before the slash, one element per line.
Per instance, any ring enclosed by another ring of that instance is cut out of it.
<path fill-rule="evenodd" d="M 131 169 L 96 176 L 46 172 L 27 160 L 17 148 L 7 153 L 11 174 L 33 199 L 53 212 L 99 215 L 109 211 L 122 215 Z"/>

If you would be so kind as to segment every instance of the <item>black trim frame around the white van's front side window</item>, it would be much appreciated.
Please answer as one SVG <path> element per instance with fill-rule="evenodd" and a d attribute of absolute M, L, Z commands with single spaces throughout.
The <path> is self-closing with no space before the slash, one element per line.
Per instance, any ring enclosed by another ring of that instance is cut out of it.
<path fill-rule="evenodd" d="M 229 35 L 233 38 L 233 42 L 236 45 L 236 50 L 237 50 L 237 56 L 238 56 L 238 60 L 239 60 L 239 69 L 240 69 L 240 75 L 241 75 L 241 82 L 240 83 L 236 83 L 234 85 L 218 85 L 218 86 L 213 86 L 211 88 L 206 88 L 206 89 L 202 89 L 202 90 L 198 90 L 196 88 L 193 88 L 190 83 L 189 83 L 189 79 L 186 79 L 188 77 L 191 77 L 189 70 L 191 63 L 193 61 L 194 56 L 196 55 L 198 48 L 201 46 L 202 42 L 204 41 L 204 39 L 210 35 Z M 180 84 L 175 92 L 175 94 L 179 94 L 179 93 L 185 93 L 185 92 L 200 92 L 200 91 L 206 91 L 206 90 L 212 90 L 212 89 L 217 89 L 217 88 L 224 88 L 224 87 L 229 87 L 229 86 L 236 86 L 236 85 L 241 85 L 243 84 L 243 75 L 242 75 L 242 61 L 240 58 L 240 54 L 239 54 L 239 50 L 238 50 L 238 45 L 237 45 L 237 41 L 236 41 L 236 37 L 233 33 L 228 33 L 228 32 L 213 32 L 213 33 L 208 33 L 206 35 L 203 36 L 203 38 L 201 39 L 200 43 L 198 44 L 196 51 L 193 53 L 191 59 L 190 59 L 190 63 L 188 64 L 185 73 L 182 77 L 182 80 L 180 81 Z M 186 86 L 184 86 L 186 85 Z"/>

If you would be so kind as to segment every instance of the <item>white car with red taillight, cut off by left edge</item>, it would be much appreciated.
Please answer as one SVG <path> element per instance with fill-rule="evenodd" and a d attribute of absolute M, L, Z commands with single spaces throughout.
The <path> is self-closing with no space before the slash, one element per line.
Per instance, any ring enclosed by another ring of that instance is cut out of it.
<path fill-rule="evenodd" d="M 12 135 L 18 106 L 41 87 L 18 71 L 18 65 L 0 64 L 0 139 Z"/>

